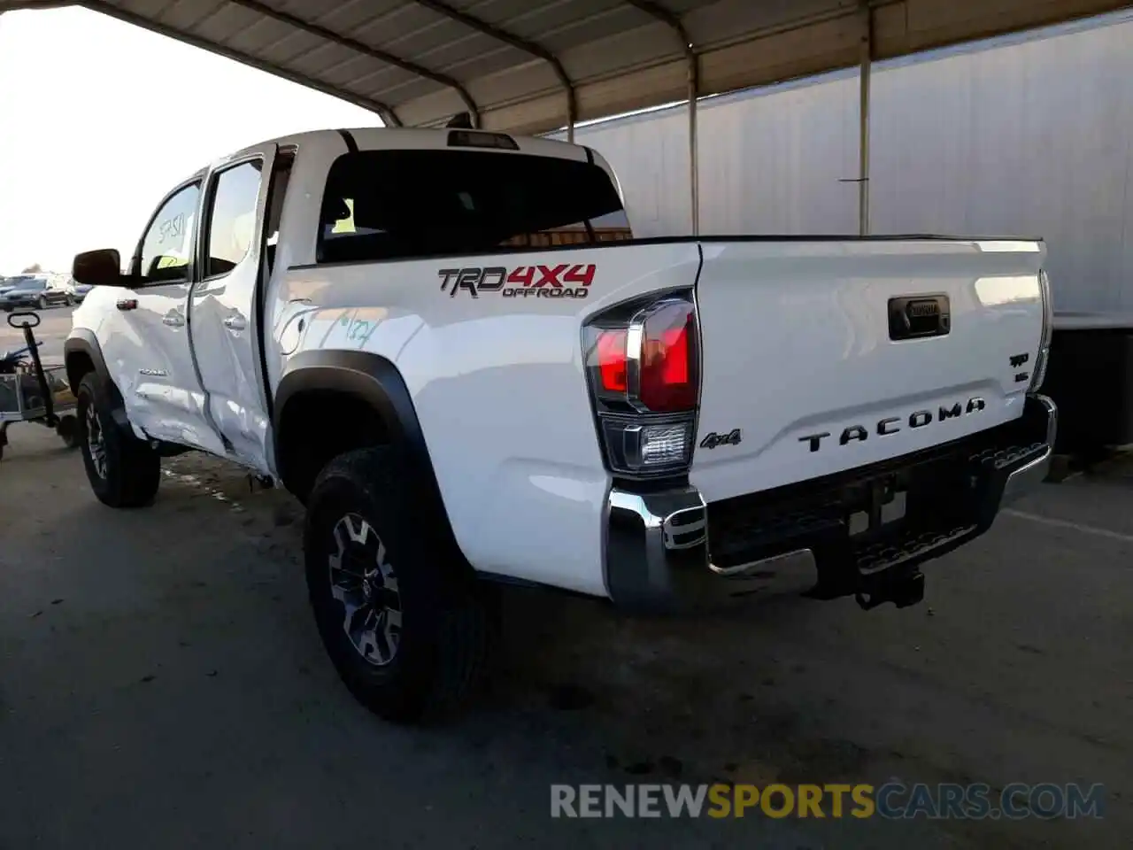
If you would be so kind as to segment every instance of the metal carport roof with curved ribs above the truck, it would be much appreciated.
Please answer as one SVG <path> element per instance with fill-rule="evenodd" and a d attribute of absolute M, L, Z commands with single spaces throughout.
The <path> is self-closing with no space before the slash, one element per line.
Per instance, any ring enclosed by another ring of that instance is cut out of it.
<path fill-rule="evenodd" d="M 0 11 L 71 3 L 0 0 Z M 1128 6 L 1116 0 L 82 0 L 378 112 L 535 134 Z M 864 56 L 863 56 L 864 54 Z"/>

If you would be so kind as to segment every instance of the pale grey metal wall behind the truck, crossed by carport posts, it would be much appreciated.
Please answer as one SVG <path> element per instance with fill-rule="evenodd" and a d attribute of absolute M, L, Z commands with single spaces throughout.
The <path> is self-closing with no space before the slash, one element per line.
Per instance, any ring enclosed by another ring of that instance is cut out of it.
<path fill-rule="evenodd" d="M 858 76 L 705 101 L 705 233 L 858 231 Z M 684 107 L 581 127 L 641 236 L 689 231 Z M 878 63 L 872 232 L 1041 236 L 1060 311 L 1133 311 L 1133 15 Z M 560 136 L 561 137 L 561 136 Z"/>

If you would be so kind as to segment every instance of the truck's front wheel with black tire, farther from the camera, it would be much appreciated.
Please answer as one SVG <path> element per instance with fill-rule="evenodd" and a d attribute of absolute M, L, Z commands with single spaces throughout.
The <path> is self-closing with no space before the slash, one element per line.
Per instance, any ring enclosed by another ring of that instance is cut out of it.
<path fill-rule="evenodd" d="M 111 414 L 109 389 L 93 372 L 78 386 L 78 441 L 91 490 L 111 508 L 150 504 L 161 481 L 161 457 L 134 434 L 119 427 Z M 97 432 L 93 434 L 93 427 Z M 100 447 L 92 443 L 101 440 Z M 101 448 L 101 462 L 95 448 Z"/>

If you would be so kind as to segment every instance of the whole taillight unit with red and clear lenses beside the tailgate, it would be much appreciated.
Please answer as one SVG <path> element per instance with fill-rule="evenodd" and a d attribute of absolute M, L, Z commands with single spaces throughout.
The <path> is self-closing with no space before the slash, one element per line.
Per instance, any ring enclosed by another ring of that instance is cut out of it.
<path fill-rule="evenodd" d="M 587 372 L 611 471 L 688 469 L 699 394 L 691 297 L 615 307 L 586 329 Z"/>

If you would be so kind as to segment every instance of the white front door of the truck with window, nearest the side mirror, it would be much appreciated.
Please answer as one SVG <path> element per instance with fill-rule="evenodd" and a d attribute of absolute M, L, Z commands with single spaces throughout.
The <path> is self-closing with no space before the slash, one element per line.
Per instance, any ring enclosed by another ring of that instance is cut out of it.
<path fill-rule="evenodd" d="M 131 261 L 134 289 L 114 292 L 99 331 L 103 356 L 130 422 L 156 440 L 223 451 L 204 413 L 193 366 L 188 304 L 195 274 L 201 180 L 159 204 Z"/>

